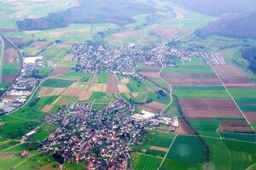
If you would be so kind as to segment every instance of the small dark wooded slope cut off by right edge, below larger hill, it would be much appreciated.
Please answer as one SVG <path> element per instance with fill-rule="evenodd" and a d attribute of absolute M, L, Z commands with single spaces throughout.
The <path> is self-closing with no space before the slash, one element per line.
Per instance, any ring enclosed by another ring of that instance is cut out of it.
<path fill-rule="evenodd" d="M 256 47 L 242 48 L 241 55 L 250 62 L 249 69 L 256 73 Z"/>

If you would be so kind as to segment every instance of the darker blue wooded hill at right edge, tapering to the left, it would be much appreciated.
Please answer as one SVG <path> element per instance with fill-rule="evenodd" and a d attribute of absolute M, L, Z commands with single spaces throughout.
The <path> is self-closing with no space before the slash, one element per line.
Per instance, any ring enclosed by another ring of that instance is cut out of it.
<path fill-rule="evenodd" d="M 256 13 L 240 14 L 213 21 L 195 31 L 195 34 L 200 37 L 219 35 L 236 38 L 256 38 Z"/>

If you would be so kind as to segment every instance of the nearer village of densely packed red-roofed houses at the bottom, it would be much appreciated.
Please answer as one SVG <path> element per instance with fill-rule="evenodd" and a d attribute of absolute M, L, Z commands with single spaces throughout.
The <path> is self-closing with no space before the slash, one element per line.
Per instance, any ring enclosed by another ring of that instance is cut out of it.
<path fill-rule="evenodd" d="M 47 123 L 61 124 L 42 142 L 41 150 L 58 161 L 85 161 L 88 169 L 125 169 L 131 158 L 130 144 L 142 144 L 147 121 L 131 117 L 135 106 L 114 99 L 106 109 L 95 110 L 90 103 L 64 106 Z"/>

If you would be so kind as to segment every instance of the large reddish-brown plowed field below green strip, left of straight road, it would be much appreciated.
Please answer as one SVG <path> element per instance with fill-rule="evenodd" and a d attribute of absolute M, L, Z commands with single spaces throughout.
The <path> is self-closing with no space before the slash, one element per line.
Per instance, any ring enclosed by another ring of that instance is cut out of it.
<path fill-rule="evenodd" d="M 232 99 L 180 99 L 189 118 L 243 117 Z"/>

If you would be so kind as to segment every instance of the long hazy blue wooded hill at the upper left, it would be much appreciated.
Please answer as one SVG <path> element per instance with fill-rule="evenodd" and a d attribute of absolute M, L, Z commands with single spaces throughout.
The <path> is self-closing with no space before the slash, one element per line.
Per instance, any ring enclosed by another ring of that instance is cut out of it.
<path fill-rule="evenodd" d="M 133 0 L 79 0 L 79 6 L 49 14 L 39 19 L 17 21 L 20 31 L 45 30 L 66 27 L 73 23 L 110 22 L 125 25 L 137 14 L 153 14 L 154 7 Z"/>

